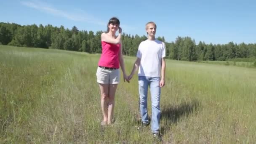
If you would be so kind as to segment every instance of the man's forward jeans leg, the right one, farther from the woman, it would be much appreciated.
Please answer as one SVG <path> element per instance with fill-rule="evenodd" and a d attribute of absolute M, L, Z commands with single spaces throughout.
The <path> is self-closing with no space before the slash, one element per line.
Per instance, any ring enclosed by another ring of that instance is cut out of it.
<path fill-rule="evenodd" d="M 152 123 L 151 130 L 153 133 L 159 133 L 160 123 L 160 77 L 152 77 L 150 80 L 150 93 L 152 100 Z"/>

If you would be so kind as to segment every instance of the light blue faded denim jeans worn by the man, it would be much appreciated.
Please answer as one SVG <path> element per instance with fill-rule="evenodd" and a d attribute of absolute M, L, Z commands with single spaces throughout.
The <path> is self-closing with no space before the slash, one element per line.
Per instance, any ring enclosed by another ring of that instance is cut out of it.
<path fill-rule="evenodd" d="M 139 106 L 142 123 L 149 123 L 147 113 L 147 90 L 150 88 L 152 102 L 151 130 L 152 133 L 159 132 L 160 123 L 160 77 L 139 76 Z"/>

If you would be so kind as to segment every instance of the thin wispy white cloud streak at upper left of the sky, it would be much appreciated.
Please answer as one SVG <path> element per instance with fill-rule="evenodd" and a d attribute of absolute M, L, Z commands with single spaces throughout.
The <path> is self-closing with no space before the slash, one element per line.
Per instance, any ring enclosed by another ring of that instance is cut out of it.
<path fill-rule="evenodd" d="M 57 8 L 53 8 L 52 6 L 46 3 L 42 3 L 40 1 L 33 1 L 33 2 L 21 1 L 21 4 L 29 8 L 35 8 L 36 10 L 42 11 L 44 13 L 49 13 L 54 16 L 61 16 L 72 21 L 84 21 L 84 22 L 98 24 L 98 25 L 106 25 L 105 22 L 100 21 L 85 12 L 80 12 L 80 13 L 66 12 L 66 11 L 59 10 Z"/>

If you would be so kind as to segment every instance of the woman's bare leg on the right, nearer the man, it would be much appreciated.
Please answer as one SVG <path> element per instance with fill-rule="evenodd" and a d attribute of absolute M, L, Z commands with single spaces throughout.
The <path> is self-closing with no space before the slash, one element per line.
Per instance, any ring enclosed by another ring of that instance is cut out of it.
<path fill-rule="evenodd" d="M 108 117 L 107 124 L 112 123 L 112 117 L 115 107 L 115 92 L 117 90 L 117 84 L 109 84 L 109 102 L 108 102 Z"/>

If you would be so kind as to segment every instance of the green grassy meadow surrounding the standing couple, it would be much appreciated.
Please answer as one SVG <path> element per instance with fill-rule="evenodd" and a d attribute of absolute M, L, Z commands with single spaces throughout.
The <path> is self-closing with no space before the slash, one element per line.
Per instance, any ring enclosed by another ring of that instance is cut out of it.
<path fill-rule="evenodd" d="M 99 56 L 0 45 L 0 143 L 152 143 L 150 126 L 136 128 L 137 76 L 118 85 L 115 124 L 100 126 Z M 125 56 L 127 73 L 134 60 Z M 163 143 L 255 143 L 256 69 L 166 63 Z"/>

